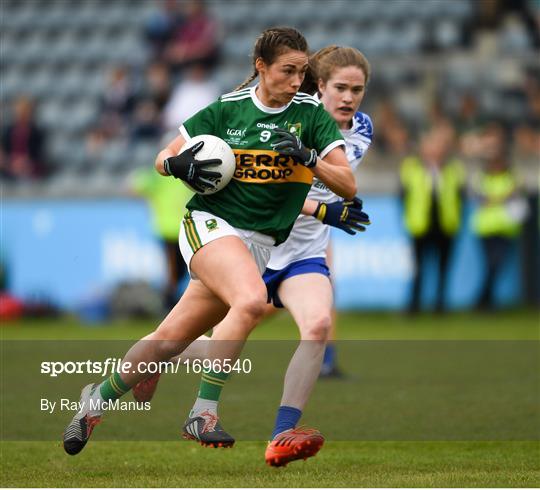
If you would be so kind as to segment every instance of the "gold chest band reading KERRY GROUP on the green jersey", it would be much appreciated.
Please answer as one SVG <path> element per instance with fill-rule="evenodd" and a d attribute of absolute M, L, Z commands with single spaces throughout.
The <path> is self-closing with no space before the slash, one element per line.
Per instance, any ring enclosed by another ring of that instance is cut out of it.
<path fill-rule="evenodd" d="M 313 173 L 292 157 L 272 150 L 234 150 L 236 170 L 233 178 L 242 182 L 311 184 Z"/>

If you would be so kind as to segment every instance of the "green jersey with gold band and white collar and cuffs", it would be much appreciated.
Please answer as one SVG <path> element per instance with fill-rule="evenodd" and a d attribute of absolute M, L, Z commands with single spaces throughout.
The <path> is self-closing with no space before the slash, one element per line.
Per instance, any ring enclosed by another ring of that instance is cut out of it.
<path fill-rule="evenodd" d="M 272 149 L 275 128 L 287 129 L 324 158 L 345 145 L 336 122 L 314 97 L 298 93 L 283 107 L 264 106 L 256 87 L 222 95 L 188 119 L 180 132 L 186 140 L 213 134 L 225 140 L 236 156 L 231 182 L 215 194 L 196 194 L 190 210 L 206 211 L 235 228 L 286 240 L 313 181 L 313 172 Z"/>

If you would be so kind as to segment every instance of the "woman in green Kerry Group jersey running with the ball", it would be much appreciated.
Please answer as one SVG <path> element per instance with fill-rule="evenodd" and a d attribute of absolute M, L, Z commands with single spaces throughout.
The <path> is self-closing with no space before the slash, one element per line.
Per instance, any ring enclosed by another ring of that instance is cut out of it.
<path fill-rule="evenodd" d="M 220 97 L 186 121 L 180 136 L 158 154 L 155 166 L 162 175 L 198 189 L 211 187 L 215 175 L 206 167 L 215 162 L 195 159 L 200 144 L 178 152 L 187 139 L 214 134 L 233 148 L 237 173 L 222 191 L 196 195 L 188 203 L 180 243 L 193 279 L 158 328 L 128 351 L 121 373 L 82 390 L 82 409 L 64 433 L 67 453 L 84 448 L 101 420 L 103 402 L 118 399 L 143 379 L 148 363 L 170 359 L 211 327 L 219 325 L 215 340 L 234 342 L 212 342 L 208 357 L 237 359 L 265 311 L 261 273 L 270 251 L 286 240 L 313 176 L 336 194 L 354 197 L 356 184 L 335 121 L 313 97 L 298 94 L 308 68 L 307 51 L 306 40 L 295 29 L 264 31 L 254 48 L 254 72 L 246 81 L 258 76 L 259 84 Z M 268 168 L 270 177 L 262 172 Z M 227 377 L 223 372 L 207 374 L 208 389 L 220 389 Z M 200 424 L 220 431 L 217 420 L 202 419 Z M 228 435 L 223 434 L 226 445 Z"/>

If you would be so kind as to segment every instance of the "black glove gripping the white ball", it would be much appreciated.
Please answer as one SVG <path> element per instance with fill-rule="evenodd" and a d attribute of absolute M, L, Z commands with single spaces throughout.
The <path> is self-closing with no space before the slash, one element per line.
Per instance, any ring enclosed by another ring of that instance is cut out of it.
<path fill-rule="evenodd" d="M 167 174 L 175 179 L 181 179 L 198 192 L 213 190 L 216 185 L 212 179 L 219 179 L 221 174 L 206 170 L 212 165 L 221 165 L 219 158 L 210 160 L 196 160 L 195 155 L 203 147 L 204 141 L 199 141 L 191 148 L 187 148 L 176 157 L 169 157 L 163 161 L 163 168 Z"/>

